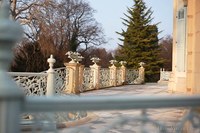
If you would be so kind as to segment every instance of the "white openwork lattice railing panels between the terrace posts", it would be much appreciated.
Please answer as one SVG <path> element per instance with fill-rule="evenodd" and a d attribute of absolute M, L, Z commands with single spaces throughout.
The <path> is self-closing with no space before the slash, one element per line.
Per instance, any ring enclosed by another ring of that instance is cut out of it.
<path fill-rule="evenodd" d="M 56 68 L 55 71 L 55 93 L 62 94 L 63 91 L 68 89 L 69 82 L 69 70 L 66 67 Z M 99 71 L 99 88 L 111 87 L 113 79 L 111 79 L 111 71 L 109 68 L 101 68 Z M 25 72 L 9 72 L 9 75 L 13 77 L 13 80 L 17 85 L 23 88 L 24 93 L 27 96 L 42 96 L 47 91 L 47 71 L 42 73 L 25 73 Z M 93 90 L 94 86 L 94 72 L 91 68 L 84 68 L 83 82 L 80 92 Z M 139 76 L 138 70 L 127 69 L 126 81 L 128 84 L 132 84 L 133 81 Z M 122 85 L 122 70 L 117 69 L 116 72 L 116 85 Z"/>

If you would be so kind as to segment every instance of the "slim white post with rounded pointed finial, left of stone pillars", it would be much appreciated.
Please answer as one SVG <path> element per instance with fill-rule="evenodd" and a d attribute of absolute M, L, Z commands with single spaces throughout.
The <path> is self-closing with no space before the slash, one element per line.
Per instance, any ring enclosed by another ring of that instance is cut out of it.
<path fill-rule="evenodd" d="M 53 65 L 56 60 L 53 58 L 53 55 L 47 60 L 49 63 L 49 69 L 47 71 L 47 96 L 53 96 L 55 94 L 55 71 L 53 69 Z"/>

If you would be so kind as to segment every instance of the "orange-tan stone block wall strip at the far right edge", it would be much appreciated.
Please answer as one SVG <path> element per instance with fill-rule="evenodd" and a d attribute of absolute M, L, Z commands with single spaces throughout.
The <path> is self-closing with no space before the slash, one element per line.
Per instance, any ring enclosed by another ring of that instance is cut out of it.
<path fill-rule="evenodd" d="M 200 1 L 188 2 L 187 91 L 200 93 Z"/>

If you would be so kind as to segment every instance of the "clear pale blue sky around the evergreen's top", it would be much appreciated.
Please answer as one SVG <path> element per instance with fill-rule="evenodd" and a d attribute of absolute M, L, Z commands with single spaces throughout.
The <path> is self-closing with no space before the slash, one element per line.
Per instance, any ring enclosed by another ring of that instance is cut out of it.
<path fill-rule="evenodd" d="M 133 6 L 133 0 L 87 0 L 90 6 L 96 10 L 94 17 L 104 30 L 108 44 L 103 45 L 108 50 L 117 48 L 120 37 L 116 31 L 121 32 L 121 29 L 126 29 L 122 24 L 122 19 L 125 18 L 124 13 L 127 13 L 127 8 Z M 172 35 L 172 15 L 173 15 L 173 0 L 144 0 L 148 8 L 152 7 L 153 23 L 158 23 L 159 31 L 162 31 L 159 38 L 166 35 Z"/>

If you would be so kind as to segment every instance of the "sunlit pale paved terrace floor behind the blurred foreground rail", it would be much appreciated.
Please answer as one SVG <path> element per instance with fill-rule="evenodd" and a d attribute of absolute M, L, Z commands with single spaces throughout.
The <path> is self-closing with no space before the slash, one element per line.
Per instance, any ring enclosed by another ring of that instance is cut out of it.
<path fill-rule="evenodd" d="M 113 88 L 106 88 L 102 90 L 95 90 L 82 93 L 81 96 L 111 96 L 111 95 L 127 95 L 127 96 L 136 96 L 136 95 L 182 95 L 182 94 L 171 94 L 167 91 L 167 85 L 159 85 L 156 83 L 150 83 L 145 85 L 127 85 L 127 86 L 120 86 L 120 87 L 113 87 Z M 119 116 L 127 116 L 127 117 L 135 117 L 141 113 L 140 110 L 127 110 L 127 111 L 96 111 L 96 112 L 89 112 L 92 114 L 93 119 L 88 122 L 82 123 L 77 127 L 89 127 L 92 133 L 99 133 L 105 127 L 111 125 L 113 120 Z M 175 125 L 177 121 L 184 114 L 184 110 L 180 108 L 167 108 L 167 109 L 149 109 L 147 114 L 150 118 L 154 120 L 161 121 L 167 125 L 167 129 L 170 133 L 175 132 Z M 137 123 L 125 124 L 123 127 L 118 127 L 117 129 L 112 129 L 109 133 L 137 133 L 140 132 L 140 127 Z M 150 127 L 150 128 L 153 128 Z M 162 132 L 159 127 L 155 127 L 152 129 L 152 133 L 155 132 Z M 65 128 L 60 130 L 61 133 L 70 132 L 69 128 Z M 151 132 L 148 130 L 148 132 Z"/>

